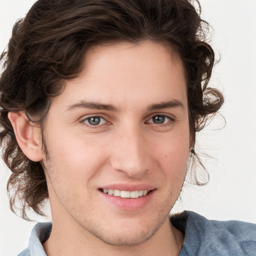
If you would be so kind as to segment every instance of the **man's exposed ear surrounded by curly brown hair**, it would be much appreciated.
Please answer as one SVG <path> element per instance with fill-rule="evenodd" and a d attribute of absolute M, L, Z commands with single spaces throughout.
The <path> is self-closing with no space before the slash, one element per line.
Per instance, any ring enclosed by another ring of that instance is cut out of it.
<path fill-rule="evenodd" d="M 40 129 L 28 121 L 24 111 L 8 112 L 8 118 L 23 153 L 32 161 L 42 160 L 43 153 L 39 139 Z"/>

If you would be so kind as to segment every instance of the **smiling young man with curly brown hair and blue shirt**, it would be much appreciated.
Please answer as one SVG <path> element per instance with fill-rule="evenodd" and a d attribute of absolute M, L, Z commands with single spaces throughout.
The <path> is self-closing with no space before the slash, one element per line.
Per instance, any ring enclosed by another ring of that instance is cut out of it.
<path fill-rule="evenodd" d="M 223 102 L 187 1 L 44 1 L 14 27 L 1 141 L 22 200 L 50 223 L 20 255 L 253 255 L 255 227 L 168 213 Z"/>

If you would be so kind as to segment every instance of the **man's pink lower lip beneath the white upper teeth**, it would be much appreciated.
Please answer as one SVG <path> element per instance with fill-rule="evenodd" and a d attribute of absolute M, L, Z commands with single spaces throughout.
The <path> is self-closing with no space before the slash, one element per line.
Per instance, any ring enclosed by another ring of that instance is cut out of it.
<path fill-rule="evenodd" d="M 120 196 L 106 194 L 100 190 L 99 192 L 105 199 L 122 210 L 139 210 L 149 204 L 155 190 L 151 190 L 148 194 L 137 198 L 122 198 Z"/>

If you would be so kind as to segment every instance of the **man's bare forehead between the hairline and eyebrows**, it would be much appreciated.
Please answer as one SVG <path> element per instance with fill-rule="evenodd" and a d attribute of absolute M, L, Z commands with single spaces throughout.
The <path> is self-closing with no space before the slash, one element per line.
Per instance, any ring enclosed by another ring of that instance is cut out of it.
<path fill-rule="evenodd" d="M 66 104 L 89 100 L 118 107 L 131 99 L 137 104 L 186 101 L 183 64 L 177 53 L 151 41 L 94 46 L 87 50 L 78 77 L 66 81 L 61 98 Z"/>

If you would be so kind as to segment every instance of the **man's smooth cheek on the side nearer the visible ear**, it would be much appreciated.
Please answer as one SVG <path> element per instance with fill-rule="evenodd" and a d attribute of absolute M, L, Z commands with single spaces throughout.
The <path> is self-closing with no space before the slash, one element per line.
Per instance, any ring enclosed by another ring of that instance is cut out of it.
<path fill-rule="evenodd" d="M 61 173 L 68 183 L 86 184 L 97 175 L 107 159 L 105 145 L 93 138 L 82 136 L 65 136 L 56 138 L 54 143 L 47 144 L 50 156 L 50 168 L 55 173 Z"/>

